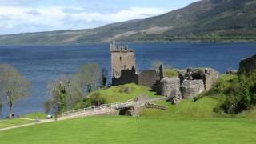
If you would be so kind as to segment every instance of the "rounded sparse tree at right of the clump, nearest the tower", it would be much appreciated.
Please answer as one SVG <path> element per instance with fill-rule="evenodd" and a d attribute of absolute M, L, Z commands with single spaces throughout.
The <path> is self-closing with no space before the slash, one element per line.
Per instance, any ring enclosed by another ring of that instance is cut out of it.
<path fill-rule="evenodd" d="M 81 66 L 78 70 L 78 78 L 83 92 L 90 93 L 92 90 L 102 86 L 102 70 L 97 64 Z"/>

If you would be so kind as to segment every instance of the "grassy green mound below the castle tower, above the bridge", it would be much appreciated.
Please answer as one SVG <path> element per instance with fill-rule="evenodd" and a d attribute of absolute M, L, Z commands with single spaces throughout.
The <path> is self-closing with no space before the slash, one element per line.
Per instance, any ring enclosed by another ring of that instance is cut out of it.
<path fill-rule="evenodd" d="M 130 90 L 130 92 L 126 93 L 124 90 L 128 87 L 131 90 Z M 125 102 L 127 100 L 137 98 L 138 95 L 140 95 L 140 94 L 145 94 L 146 96 L 148 96 L 150 98 L 158 97 L 158 95 L 155 95 L 155 93 L 150 91 L 149 88 L 147 88 L 145 86 L 138 86 L 135 84 L 126 84 L 123 86 L 113 86 L 113 87 L 110 87 L 109 89 L 98 90 L 96 92 L 99 92 L 103 98 L 106 98 L 107 103 Z M 94 94 L 94 93 L 92 93 L 92 94 Z M 90 97 L 90 95 L 89 95 L 89 97 Z"/>

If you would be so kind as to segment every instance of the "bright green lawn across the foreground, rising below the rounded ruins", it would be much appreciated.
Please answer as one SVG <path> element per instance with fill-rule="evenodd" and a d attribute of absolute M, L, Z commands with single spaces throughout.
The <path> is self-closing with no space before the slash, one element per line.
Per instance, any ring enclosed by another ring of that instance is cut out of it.
<path fill-rule="evenodd" d="M 1 143 L 254 143 L 256 121 L 218 118 L 214 98 L 185 100 L 167 110 L 142 110 L 140 117 L 96 116 L 0 132 Z"/>

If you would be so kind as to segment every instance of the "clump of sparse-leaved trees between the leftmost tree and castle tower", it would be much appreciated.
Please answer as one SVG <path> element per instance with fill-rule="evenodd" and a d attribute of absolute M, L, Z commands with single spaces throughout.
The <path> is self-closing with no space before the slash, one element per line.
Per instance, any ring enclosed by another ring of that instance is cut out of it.
<path fill-rule="evenodd" d="M 106 74 L 106 70 L 101 70 L 97 64 L 88 64 L 81 66 L 76 75 L 64 76 L 51 82 L 48 85 L 49 99 L 45 102 L 46 113 L 54 110 L 54 114 L 61 114 L 80 107 L 83 95 L 104 83 L 106 85 Z"/>

